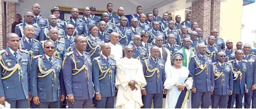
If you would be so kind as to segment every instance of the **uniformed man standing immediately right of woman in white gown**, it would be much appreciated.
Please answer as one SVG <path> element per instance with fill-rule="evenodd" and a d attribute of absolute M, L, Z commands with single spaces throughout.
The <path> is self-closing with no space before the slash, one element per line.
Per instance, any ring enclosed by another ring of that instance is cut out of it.
<path fill-rule="evenodd" d="M 210 96 L 214 90 L 214 74 L 210 57 L 205 55 L 206 45 L 199 43 L 198 53 L 190 58 L 189 72 L 193 78 L 192 108 L 209 108 Z"/>

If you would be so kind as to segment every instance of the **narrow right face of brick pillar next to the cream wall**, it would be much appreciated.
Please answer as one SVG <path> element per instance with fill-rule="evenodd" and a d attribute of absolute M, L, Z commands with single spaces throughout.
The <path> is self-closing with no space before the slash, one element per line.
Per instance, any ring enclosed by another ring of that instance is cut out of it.
<path fill-rule="evenodd" d="M 220 1 L 212 0 L 210 8 L 210 30 L 216 29 L 219 31 Z"/>

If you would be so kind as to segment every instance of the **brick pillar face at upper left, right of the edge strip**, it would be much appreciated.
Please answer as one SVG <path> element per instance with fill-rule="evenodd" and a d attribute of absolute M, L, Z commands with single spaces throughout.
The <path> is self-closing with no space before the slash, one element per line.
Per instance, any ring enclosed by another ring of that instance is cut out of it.
<path fill-rule="evenodd" d="M 12 31 L 12 23 L 15 21 L 16 4 L 14 2 L 6 2 L 6 33 Z"/>

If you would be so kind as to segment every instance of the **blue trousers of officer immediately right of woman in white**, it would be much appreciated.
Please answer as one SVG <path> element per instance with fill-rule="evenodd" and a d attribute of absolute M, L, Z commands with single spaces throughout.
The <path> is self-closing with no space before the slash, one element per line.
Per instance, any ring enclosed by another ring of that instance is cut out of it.
<path fill-rule="evenodd" d="M 195 93 L 192 92 L 192 95 L 191 95 L 192 108 L 199 108 L 201 101 L 202 101 L 201 108 L 209 108 L 211 95 L 212 95 L 211 91 L 207 91 L 207 92 L 197 91 Z"/>

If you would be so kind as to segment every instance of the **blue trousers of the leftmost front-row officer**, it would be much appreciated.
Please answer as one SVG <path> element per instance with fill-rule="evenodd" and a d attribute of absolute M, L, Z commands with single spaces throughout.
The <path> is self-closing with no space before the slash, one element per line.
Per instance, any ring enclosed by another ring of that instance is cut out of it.
<path fill-rule="evenodd" d="M 28 108 L 28 100 L 6 100 L 10 105 L 11 108 Z"/>

